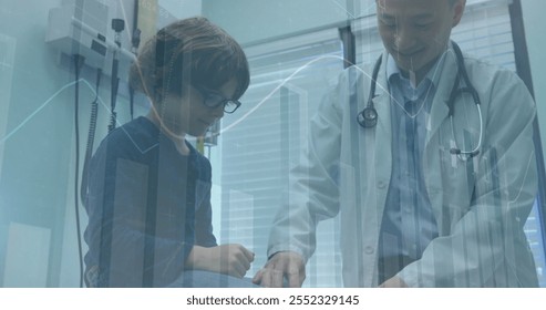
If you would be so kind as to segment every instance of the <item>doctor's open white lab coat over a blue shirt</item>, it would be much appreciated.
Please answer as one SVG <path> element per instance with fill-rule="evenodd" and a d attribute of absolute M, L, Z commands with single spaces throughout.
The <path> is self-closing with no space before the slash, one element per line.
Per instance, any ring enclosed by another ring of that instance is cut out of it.
<path fill-rule="evenodd" d="M 383 54 L 383 60 L 388 54 Z M 523 226 L 536 188 L 535 104 L 516 74 L 465 55 L 483 113 L 480 154 L 452 155 L 449 100 L 456 59 L 446 56 L 426 125 L 423 169 L 440 237 L 398 276 L 410 287 L 535 287 Z M 268 255 L 315 251 L 318 221 L 339 214 L 346 287 L 378 286 L 377 249 L 392 167 L 391 103 L 383 61 L 374 106 L 379 121 L 362 128 L 357 114 L 369 96 L 371 70 L 346 70 L 311 121 L 308 152 L 290 174 L 286 204 L 274 221 Z M 455 102 L 457 147 L 473 148 L 480 120 L 472 100 Z"/>

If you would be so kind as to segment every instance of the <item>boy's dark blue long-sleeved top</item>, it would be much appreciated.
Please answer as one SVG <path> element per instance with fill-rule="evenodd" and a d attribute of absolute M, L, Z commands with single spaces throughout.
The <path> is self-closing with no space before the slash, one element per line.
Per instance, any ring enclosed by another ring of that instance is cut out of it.
<path fill-rule="evenodd" d="M 164 287 L 194 245 L 216 246 L 210 163 L 147 118 L 116 128 L 90 165 L 85 280 L 93 287 Z"/>

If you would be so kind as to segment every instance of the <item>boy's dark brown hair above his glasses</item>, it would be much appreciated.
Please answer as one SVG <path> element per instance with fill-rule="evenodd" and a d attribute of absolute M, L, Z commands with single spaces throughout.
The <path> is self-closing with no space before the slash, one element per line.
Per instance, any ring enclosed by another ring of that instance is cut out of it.
<path fill-rule="evenodd" d="M 245 52 L 226 31 L 203 17 L 161 29 L 130 70 L 131 86 L 157 102 L 166 94 L 183 95 L 189 85 L 218 90 L 234 78 L 234 99 L 239 99 L 250 83 Z"/>

